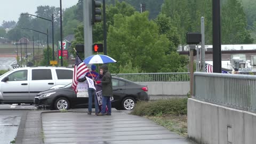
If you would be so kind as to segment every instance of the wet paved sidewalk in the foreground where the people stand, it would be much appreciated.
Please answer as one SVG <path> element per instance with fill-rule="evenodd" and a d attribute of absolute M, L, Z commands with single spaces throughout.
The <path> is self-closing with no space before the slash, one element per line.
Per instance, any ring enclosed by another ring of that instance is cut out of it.
<path fill-rule="evenodd" d="M 16 143 L 178 143 L 192 144 L 147 118 L 113 110 L 111 116 L 85 110 L 29 111 L 22 116 Z"/>

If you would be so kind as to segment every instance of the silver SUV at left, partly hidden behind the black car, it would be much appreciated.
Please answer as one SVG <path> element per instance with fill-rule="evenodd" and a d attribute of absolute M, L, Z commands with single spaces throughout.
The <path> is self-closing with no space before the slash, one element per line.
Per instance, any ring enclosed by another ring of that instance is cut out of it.
<path fill-rule="evenodd" d="M 72 82 L 73 68 L 24 67 L 0 76 L 0 103 L 34 103 L 39 92 Z"/>

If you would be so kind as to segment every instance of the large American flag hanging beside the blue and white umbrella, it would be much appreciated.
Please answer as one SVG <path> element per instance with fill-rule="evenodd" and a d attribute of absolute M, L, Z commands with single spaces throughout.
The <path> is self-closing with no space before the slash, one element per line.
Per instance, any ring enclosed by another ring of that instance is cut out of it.
<path fill-rule="evenodd" d="M 73 83 L 72 83 L 72 89 L 77 93 L 77 79 L 81 77 L 83 74 L 89 72 L 89 69 L 85 65 L 85 63 L 82 61 L 82 59 L 76 54 L 76 61 L 75 61 L 75 67 L 74 67 L 74 73 L 73 73 Z"/>

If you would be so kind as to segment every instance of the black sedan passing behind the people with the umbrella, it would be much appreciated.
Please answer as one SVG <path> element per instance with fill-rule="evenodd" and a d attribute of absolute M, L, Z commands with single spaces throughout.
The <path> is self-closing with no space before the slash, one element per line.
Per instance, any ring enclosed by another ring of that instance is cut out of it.
<path fill-rule="evenodd" d="M 131 110 L 138 100 L 149 100 L 146 85 L 139 85 L 118 77 L 112 77 L 112 84 L 114 100 L 111 101 L 111 106 L 116 109 Z M 72 83 L 59 89 L 38 93 L 34 100 L 35 106 L 59 110 L 88 107 L 88 98 L 77 98 L 71 85 Z"/>

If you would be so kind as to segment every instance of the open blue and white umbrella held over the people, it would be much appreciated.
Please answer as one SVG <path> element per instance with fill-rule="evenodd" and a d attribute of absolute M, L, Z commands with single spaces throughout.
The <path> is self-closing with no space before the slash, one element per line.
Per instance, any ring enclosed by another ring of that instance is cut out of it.
<path fill-rule="evenodd" d="M 116 60 L 114 60 L 111 57 L 108 57 L 107 55 L 103 55 L 103 54 L 91 55 L 90 57 L 87 57 L 84 59 L 84 63 L 86 63 L 86 64 L 114 63 L 114 62 L 116 62 Z"/>

